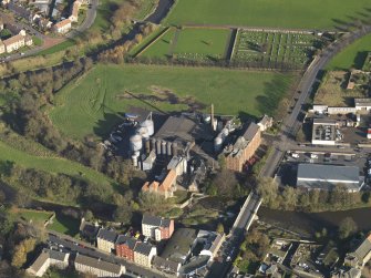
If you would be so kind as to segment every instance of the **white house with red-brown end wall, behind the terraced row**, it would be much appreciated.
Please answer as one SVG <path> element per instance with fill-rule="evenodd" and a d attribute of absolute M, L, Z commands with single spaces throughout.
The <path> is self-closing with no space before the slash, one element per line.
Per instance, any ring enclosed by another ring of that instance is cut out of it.
<path fill-rule="evenodd" d="M 156 241 L 168 239 L 174 233 L 174 220 L 152 215 L 143 215 L 142 233 Z"/>

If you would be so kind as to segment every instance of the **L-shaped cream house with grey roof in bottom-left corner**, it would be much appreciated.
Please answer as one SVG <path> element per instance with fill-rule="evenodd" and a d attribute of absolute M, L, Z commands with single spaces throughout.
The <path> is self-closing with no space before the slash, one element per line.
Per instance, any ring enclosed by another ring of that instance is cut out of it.
<path fill-rule="evenodd" d="M 65 269 L 69 266 L 69 253 L 52 249 L 43 249 L 33 264 L 27 269 L 32 276 L 42 277 L 50 266 Z"/>

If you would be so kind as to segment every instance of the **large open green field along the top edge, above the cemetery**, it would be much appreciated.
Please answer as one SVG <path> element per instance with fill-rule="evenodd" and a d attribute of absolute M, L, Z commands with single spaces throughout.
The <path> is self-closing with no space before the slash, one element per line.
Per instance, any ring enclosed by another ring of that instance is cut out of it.
<path fill-rule="evenodd" d="M 166 22 L 333 29 L 369 17 L 367 8 L 369 0 L 177 0 Z"/>

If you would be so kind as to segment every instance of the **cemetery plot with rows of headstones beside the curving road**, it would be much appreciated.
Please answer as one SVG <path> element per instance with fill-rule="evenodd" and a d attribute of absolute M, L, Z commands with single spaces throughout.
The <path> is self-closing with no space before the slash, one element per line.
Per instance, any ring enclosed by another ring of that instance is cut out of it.
<path fill-rule="evenodd" d="M 236 40 L 235 61 L 261 62 L 271 66 L 285 63 L 301 68 L 311 59 L 317 38 L 302 33 L 239 30 Z"/>

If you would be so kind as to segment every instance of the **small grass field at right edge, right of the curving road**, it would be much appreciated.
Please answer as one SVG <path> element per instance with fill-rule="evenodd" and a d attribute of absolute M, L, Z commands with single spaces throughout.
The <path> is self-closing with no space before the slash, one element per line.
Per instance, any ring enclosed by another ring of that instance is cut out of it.
<path fill-rule="evenodd" d="M 337 54 L 328 64 L 328 70 L 349 70 L 350 68 L 361 69 L 371 51 L 371 34 L 355 41 L 339 54 Z"/>

